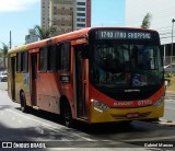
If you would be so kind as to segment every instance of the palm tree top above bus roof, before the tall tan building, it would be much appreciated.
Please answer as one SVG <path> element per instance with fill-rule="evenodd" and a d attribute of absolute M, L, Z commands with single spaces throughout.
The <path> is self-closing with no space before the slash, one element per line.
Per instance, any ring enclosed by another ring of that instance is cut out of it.
<path fill-rule="evenodd" d="M 39 25 L 35 25 L 34 30 L 35 30 L 35 34 L 39 37 L 39 39 L 49 38 L 56 32 L 56 27 L 54 26 L 44 28 L 44 27 L 40 27 Z"/>

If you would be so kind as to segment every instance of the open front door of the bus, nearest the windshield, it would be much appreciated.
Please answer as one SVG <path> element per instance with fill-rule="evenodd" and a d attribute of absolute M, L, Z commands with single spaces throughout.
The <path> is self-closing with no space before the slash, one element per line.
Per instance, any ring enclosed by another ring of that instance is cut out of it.
<path fill-rule="evenodd" d="M 75 46 L 75 94 L 77 94 L 77 115 L 79 118 L 88 118 L 88 109 L 85 104 L 85 59 L 81 57 L 83 45 Z"/>

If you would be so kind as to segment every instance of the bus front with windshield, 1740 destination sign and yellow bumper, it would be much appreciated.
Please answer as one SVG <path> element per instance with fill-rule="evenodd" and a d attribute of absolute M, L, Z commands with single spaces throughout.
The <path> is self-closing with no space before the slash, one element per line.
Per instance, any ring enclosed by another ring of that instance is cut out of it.
<path fill-rule="evenodd" d="M 97 28 L 89 40 L 89 123 L 162 117 L 165 90 L 159 34 Z"/>

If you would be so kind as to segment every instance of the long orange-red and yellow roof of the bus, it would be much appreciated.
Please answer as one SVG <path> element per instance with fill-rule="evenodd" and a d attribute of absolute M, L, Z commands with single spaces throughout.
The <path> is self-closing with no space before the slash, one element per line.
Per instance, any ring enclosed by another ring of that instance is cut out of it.
<path fill-rule="evenodd" d="M 109 26 L 104 26 L 104 27 L 85 27 L 79 31 L 74 31 L 74 32 L 70 32 L 70 33 L 66 33 L 62 35 L 58 35 L 55 37 L 50 37 L 50 38 L 46 38 L 43 40 L 38 40 L 38 42 L 34 42 L 34 43 L 30 43 L 26 45 L 22 45 L 22 46 L 18 46 L 15 48 L 12 48 L 8 51 L 8 54 L 12 54 L 12 53 L 18 53 L 18 51 L 23 51 L 26 49 L 35 49 L 48 44 L 55 44 L 55 43 L 59 43 L 59 42 L 63 42 L 63 40 L 70 40 L 70 39 L 78 39 L 78 38 L 83 38 L 85 37 L 90 31 L 92 30 L 103 30 L 103 28 L 120 28 L 120 30 L 139 30 L 139 31 L 150 31 L 150 32 L 156 32 L 153 30 L 145 30 L 145 28 L 136 28 L 136 27 L 109 27 Z"/>

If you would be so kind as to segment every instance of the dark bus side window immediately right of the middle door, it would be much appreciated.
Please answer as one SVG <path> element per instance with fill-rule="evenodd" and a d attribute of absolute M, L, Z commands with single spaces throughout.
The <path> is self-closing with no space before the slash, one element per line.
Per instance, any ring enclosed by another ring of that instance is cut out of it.
<path fill-rule="evenodd" d="M 47 47 L 42 47 L 39 49 L 39 71 L 47 71 Z"/>

